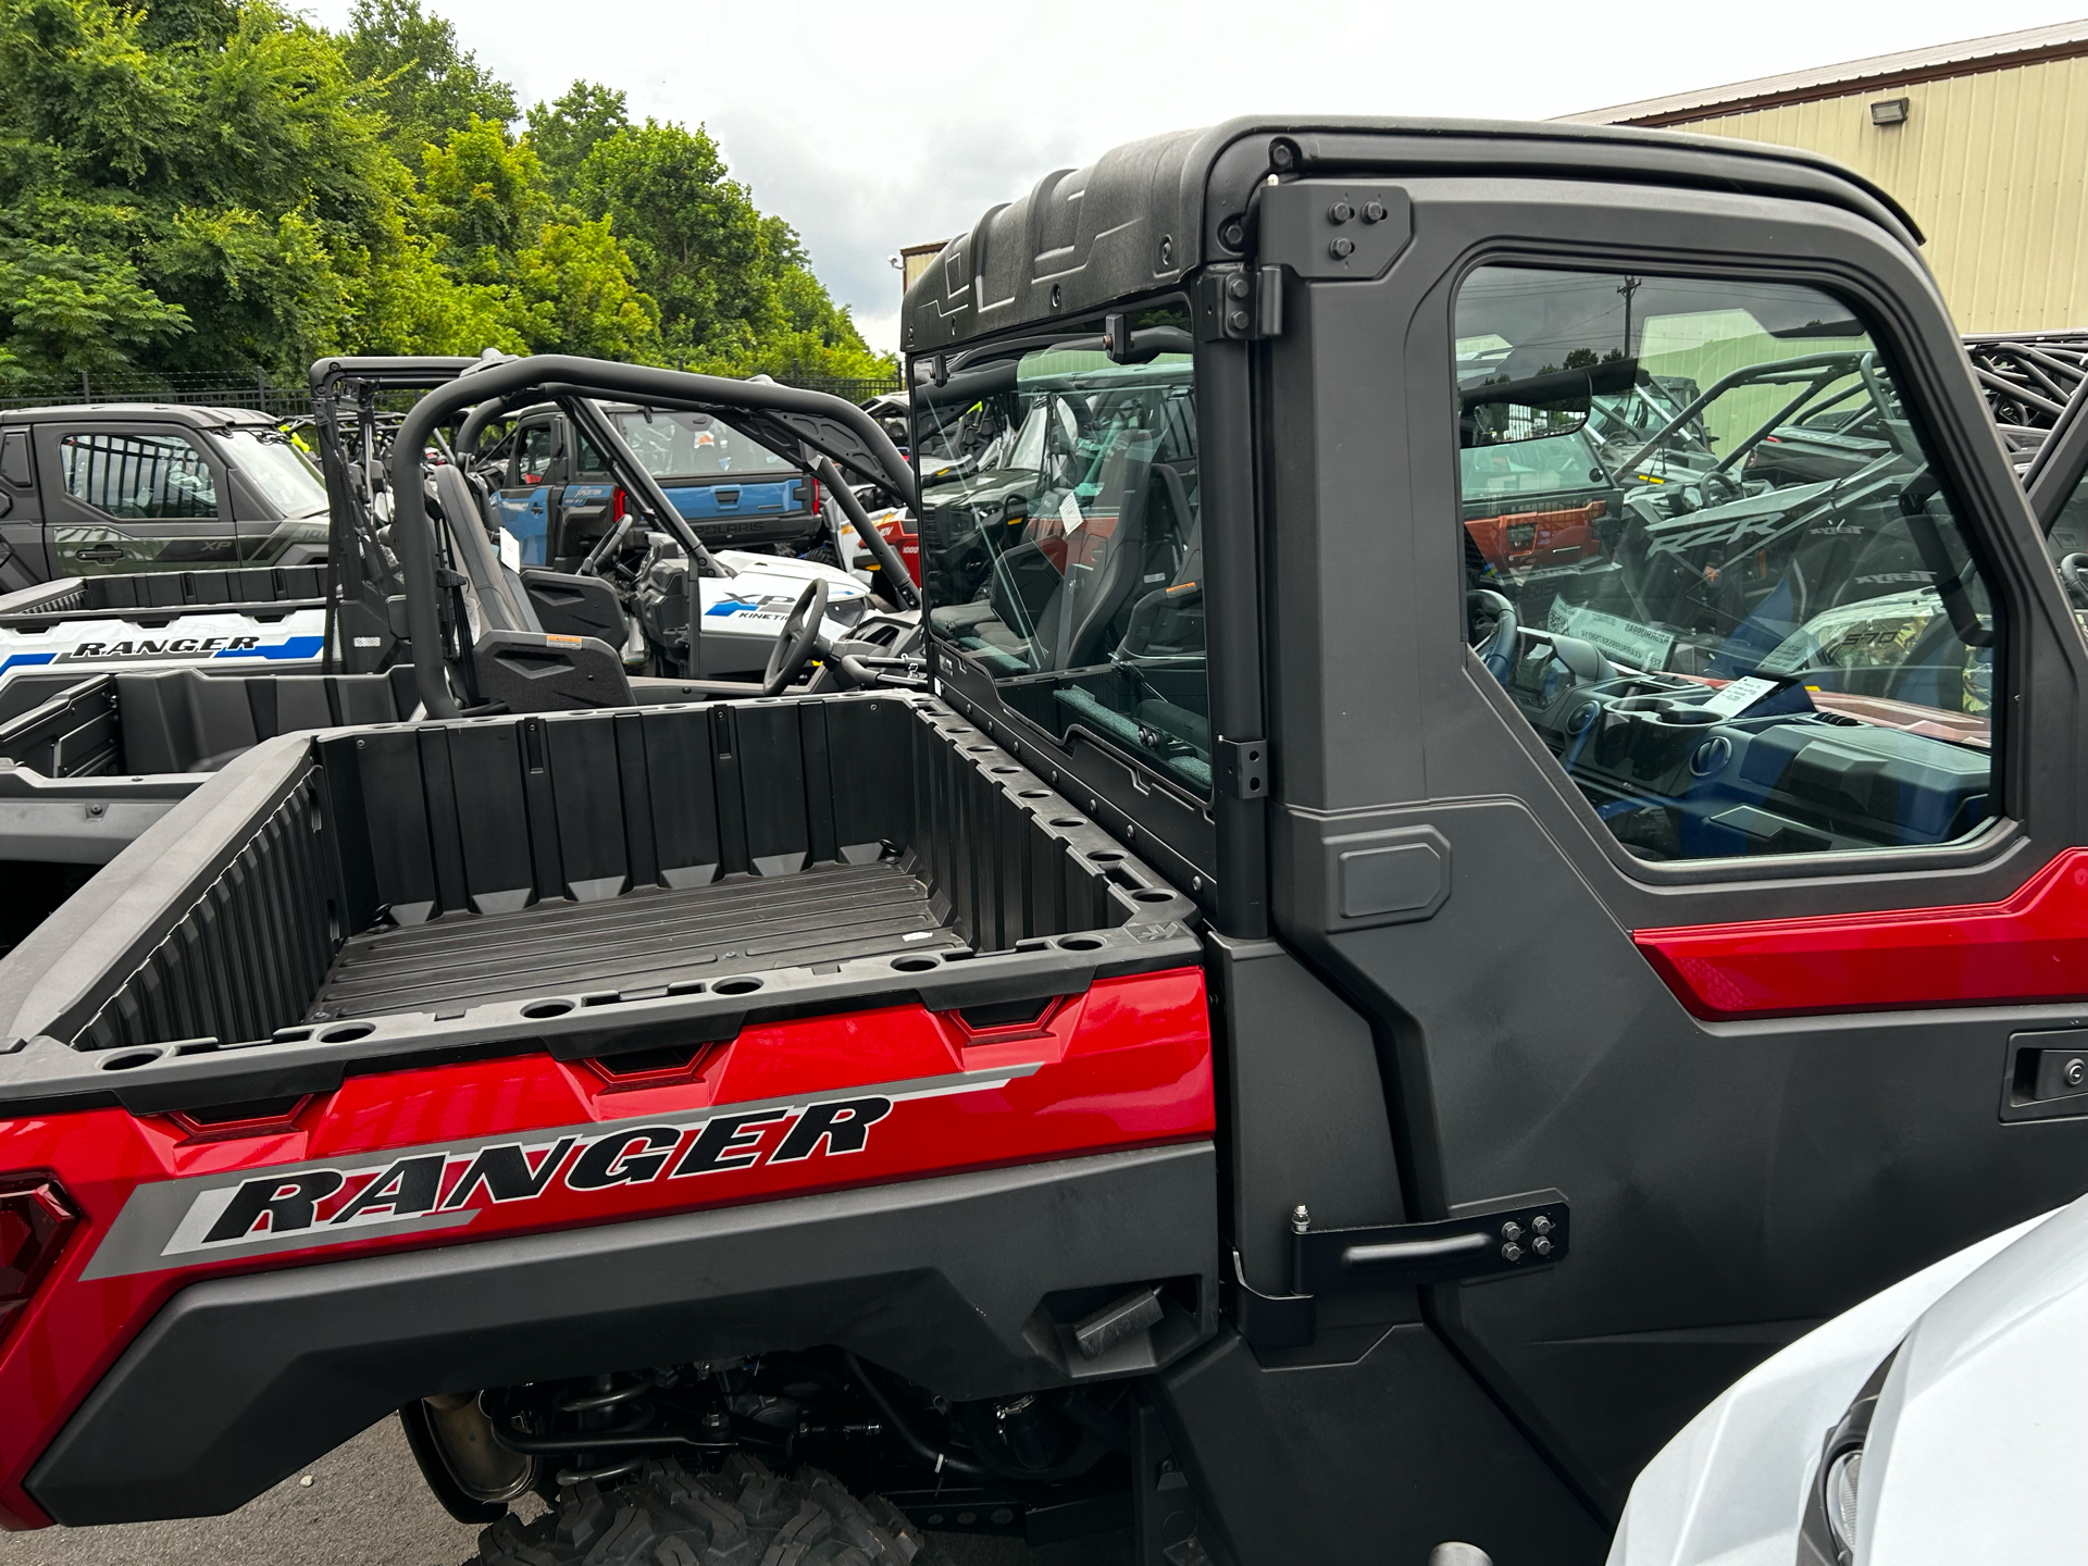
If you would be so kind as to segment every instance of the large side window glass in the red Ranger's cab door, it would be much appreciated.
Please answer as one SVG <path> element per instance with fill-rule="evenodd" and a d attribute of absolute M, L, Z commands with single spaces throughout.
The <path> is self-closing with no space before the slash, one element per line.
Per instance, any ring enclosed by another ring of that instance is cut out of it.
<path fill-rule="evenodd" d="M 1988 821 L 1998 612 L 1846 305 L 1482 267 L 1455 380 L 1468 639 L 1624 848 L 1921 846 Z"/>

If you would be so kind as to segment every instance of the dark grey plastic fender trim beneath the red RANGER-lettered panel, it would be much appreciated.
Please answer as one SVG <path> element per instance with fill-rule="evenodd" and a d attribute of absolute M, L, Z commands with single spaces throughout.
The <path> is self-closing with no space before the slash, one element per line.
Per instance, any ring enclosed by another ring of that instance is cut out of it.
<path fill-rule="evenodd" d="M 190 1284 L 29 1472 L 67 1524 L 211 1516 L 413 1397 L 841 1345 L 950 1397 L 1136 1374 L 1211 1336 L 1209 1142 Z M 1065 1288 L 1199 1278 L 1079 1361 Z"/>

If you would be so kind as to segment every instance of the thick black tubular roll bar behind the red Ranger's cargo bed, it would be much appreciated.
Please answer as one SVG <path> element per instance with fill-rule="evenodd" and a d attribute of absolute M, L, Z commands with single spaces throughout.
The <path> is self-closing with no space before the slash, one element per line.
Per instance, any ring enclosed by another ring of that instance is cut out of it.
<path fill-rule="evenodd" d="M 413 683 L 422 704 L 434 718 L 459 716 L 443 672 L 441 620 L 436 610 L 434 530 L 428 526 L 428 497 L 420 478 L 420 453 L 428 436 L 464 407 L 505 399 L 524 390 L 574 397 L 628 399 L 651 407 L 681 407 L 695 413 L 731 418 L 754 416 L 762 424 L 783 428 L 825 457 L 883 484 L 908 505 L 919 505 L 912 468 L 892 445 L 877 420 L 854 403 L 827 393 L 777 386 L 773 382 L 727 380 L 722 376 L 691 376 L 683 370 L 580 359 L 566 353 L 532 355 L 505 363 L 487 361 L 472 374 L 459 374 L 447 386 L 436 386 L 405 416 L 393 436 L 393 539 L 399 547 L 399 570 L 405 576 L 407 633 L 413 643 Z M 764 441 L 766 445 L 766 441 Z M 670 505 L 668 512 L 679 518 Z M 662 518 L 668 520 L 668 518 Z M 699 555 L 691 555 L 691 570 Z M 693 599 L 695 595 L 691 595 Z"/>

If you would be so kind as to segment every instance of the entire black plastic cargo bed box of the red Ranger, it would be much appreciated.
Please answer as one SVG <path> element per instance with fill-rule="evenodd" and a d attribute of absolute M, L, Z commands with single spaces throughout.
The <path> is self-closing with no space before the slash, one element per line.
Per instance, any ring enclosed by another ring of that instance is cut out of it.
<path fill-rule="evenodd" d="M 925 695 L 284 735 L 0 963 L 0 1113 L 1079 994 L 1196 965 L 1190 919 Z"/>

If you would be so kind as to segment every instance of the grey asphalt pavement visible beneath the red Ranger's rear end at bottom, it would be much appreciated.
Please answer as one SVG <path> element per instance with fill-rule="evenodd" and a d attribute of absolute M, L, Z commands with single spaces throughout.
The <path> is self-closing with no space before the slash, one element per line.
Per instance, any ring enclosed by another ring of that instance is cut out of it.
<path fill-rule="evenodd" d="M 541 1503 L 530 1495 L 516 1510 L 532 1518 Z M 954 1566 L 1130 1566 L 1119 1537 L 1038 1551 L 1015 1539 L 935 1543 Z M 457 1566 L 476 1549 L 478 1528 L 436 1505 L 399 1420 L 372 1424 L 230 1516 L 0 1533 L 0 1566 Z"/>

